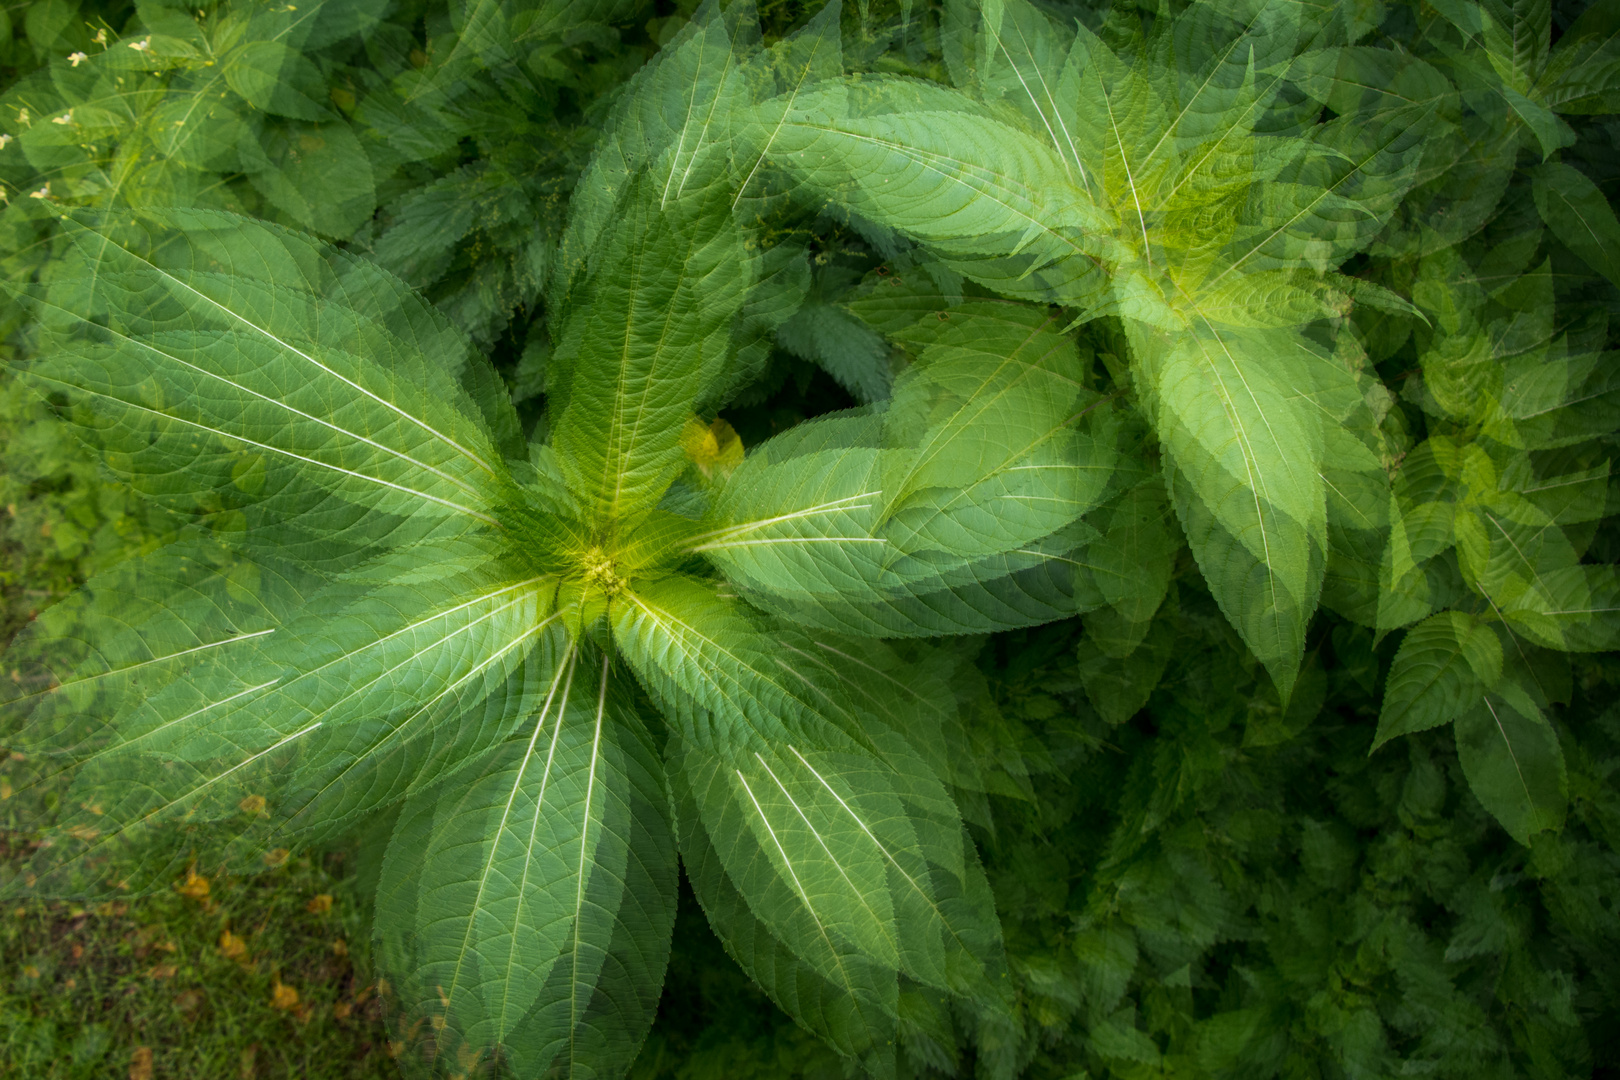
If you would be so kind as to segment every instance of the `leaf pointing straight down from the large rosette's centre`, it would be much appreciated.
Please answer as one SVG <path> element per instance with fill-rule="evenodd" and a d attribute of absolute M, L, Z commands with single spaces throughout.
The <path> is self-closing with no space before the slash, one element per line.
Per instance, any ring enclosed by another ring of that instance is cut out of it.
<path fill-rule="evenodd" d="M 407 803 L 379 936 L 402 999 L 434 1018 L 434 1056 L 528 1075 L 633 1059 L 653 1010 L 624 983 L 661 978 L 674 915 L 661 789 L 611 661 L 570 653 L 525 730 Z M 595 1030 L 604 1017 L 616 1030 Z"/>

